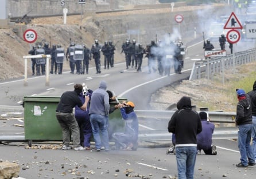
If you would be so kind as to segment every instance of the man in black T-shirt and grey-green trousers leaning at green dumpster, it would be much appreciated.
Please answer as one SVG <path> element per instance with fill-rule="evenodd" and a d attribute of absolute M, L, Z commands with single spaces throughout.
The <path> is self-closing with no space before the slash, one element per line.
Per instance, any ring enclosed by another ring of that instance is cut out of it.
<path fill-rule="evenodd" d="M 83 147 L 80 145 L 79 126 L 73 114 L 73 108 L 76 105 L 82 110 L 87 109 L 87 104 L 90 98 L 88 96 L 84 97 L 85 102 L 83 104 L 78 97 L 82 90 L 83 86 L 81 84 L 76 84 L 73 91 L 64 92 L 61 95 L 60 102 L 56 108 L 56 117 L 63 134 L 63 150 L 71 149 L 69 146 L 71 136 L 69 129 L 71 129 L 73 136 L 73 149 L 83 150 Z"/>

